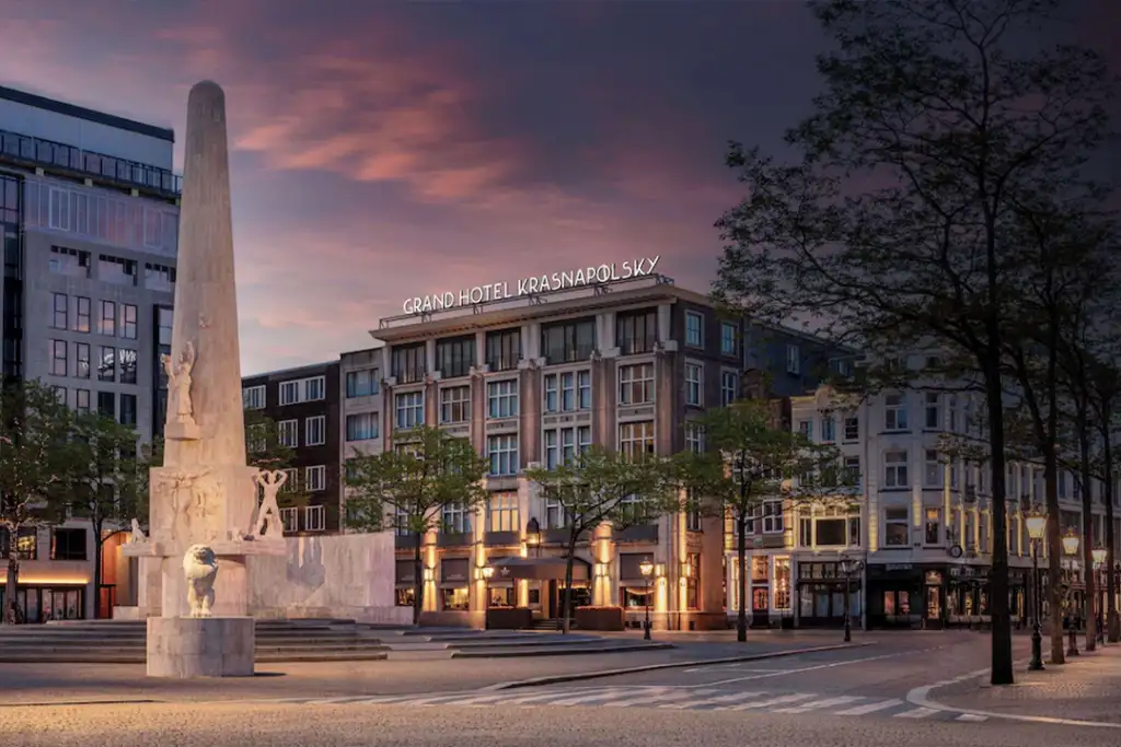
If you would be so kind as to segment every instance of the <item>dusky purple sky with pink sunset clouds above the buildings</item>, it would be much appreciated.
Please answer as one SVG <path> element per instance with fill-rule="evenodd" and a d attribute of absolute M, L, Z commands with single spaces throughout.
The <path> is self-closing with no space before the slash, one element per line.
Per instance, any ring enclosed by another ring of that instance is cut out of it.
<path fill-rule="evenodd" d="M 1069 6 L 1086 41 L 1121 29 L 1117 0 Z M 660 254 L 706 290 L 725 142 L 777 149 L 824 44 L 796 0 L 0 10 L 0 84 L 180 141 L 189 86 L 225 88 L 245 373 L 365 347 L 409 296 L 593 261 Z"/>

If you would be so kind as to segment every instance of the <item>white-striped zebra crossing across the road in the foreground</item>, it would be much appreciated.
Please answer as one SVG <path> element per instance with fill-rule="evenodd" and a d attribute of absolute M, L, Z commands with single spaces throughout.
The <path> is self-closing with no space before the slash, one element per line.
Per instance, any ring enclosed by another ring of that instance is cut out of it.
<path fill-rule="evenodd" d="M 404 706 L 415 708 L 504 708 L 504 707 L 585 707 L 654 708 L 679 711 L 735 711 L 744 713 L 815 713 L 828 716 L 869 716 L 877 718 L 985 721 L 973 713 L 917 708 L 899 698 L 834 695 L 789 691 L 729 691 L 696 687 L 603 687 L 550 688 L 548 690 L 503 690 L 454 693 L 348 695 L 342 698 L 299 698 L 286 703 L 318 706 Z"/>

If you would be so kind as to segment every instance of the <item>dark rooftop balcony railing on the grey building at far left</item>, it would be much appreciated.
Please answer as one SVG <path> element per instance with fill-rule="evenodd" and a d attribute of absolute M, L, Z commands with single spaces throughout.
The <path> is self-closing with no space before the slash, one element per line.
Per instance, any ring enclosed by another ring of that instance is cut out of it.
<path fill-rule="evenodd" d="M 0 130 L 0 159 L 68 169 L 164 195 L 183 192 L 183 177 L 167 169 L 6 130 Z"/>

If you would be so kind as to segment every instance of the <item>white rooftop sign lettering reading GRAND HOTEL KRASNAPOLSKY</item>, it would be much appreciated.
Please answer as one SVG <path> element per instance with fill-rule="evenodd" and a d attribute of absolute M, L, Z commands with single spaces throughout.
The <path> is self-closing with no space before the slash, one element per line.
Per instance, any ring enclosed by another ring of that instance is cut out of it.
<path fill-rule="evenodd" d="M 507 281 L 464 288 L 457 293 L 445 291 L 443 293 L 430 293 L 428 296 L 415 296 L 405 299 L 402 308 L 405 314 L 428 314 L 430 311 L 442 311 L 454 309 L 461 306 L 473 304 L 487 304 L 490 301 L 501 301 L 521 296 L 532 296 L 556 290 L 567 290 L 569 288 L 581 288 L 594 286 L 601 282 L 612 282 L 615 280 L 630 280 L 654 274 L 654 269 L 658 267 L 658 256 L 640 256 L 634 260 L 600 264 L 597 267 L 580 268 L 576 270 L 565 270 L 552 274 L 534 276 L 522 278 L 515 283 L 517 292 L 510 292 L 510 283 Z"/>

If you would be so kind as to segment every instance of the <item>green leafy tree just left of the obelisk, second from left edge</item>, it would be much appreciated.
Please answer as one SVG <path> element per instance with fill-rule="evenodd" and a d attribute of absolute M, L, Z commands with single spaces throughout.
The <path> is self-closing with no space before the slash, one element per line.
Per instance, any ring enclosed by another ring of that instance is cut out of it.
<path fill-rule="evenodd" d="M 148 513 L 148 479 L 139 435 L 96 412 L 74 417 L 65 475 L 66 501 L 93 529 L 93 588 L 101 592 L 101 559 L 106 529 Z M 100 605 L 94 604 L 94 610 Z"/>

